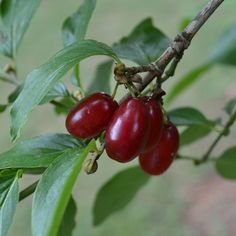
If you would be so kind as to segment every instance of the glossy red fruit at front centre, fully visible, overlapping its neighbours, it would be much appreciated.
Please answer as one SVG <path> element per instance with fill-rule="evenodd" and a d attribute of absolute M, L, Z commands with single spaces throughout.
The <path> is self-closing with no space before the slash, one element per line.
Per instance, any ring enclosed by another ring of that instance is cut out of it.
<path fill-rule="evenodd" d="M 143 150 L 149 133 L 149 114 L 145 102 L 128 98 L 113 115 L 105 135 L 108 156 L 119 162 L 133 160 Z"/>

